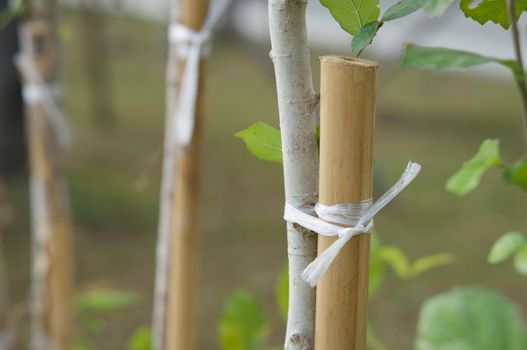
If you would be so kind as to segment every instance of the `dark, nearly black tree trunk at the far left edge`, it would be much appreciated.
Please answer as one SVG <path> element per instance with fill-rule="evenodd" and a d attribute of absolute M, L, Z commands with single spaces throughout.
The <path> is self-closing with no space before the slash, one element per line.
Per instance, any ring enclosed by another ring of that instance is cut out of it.
<path fill-rule="evenodd" d="M 0 11 L 7 6 L 0 0 Z M 24 117 L 21 87 L 13 58 L 18 51 L 18 23 L 0 29 L 0 174 L 25 165 Z"/>

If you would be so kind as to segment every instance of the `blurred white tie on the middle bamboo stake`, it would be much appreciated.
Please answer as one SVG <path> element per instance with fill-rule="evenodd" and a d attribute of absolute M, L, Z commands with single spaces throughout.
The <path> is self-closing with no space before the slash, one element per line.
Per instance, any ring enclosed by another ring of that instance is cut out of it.
<path fill-rule="evenodd" d="M 199 32 L 179 23 L 172 24 L 169 28 L 170 42 L 177 45 L 179 56 L 185 59 L 179 98 L 172 116 L 174 122 L 170 135 L 175 137 L 172 142 L 173 145 L 186 146 L 192 138 L 199 88 L 199 62 L 202 55 L 209 50 L 208 45 L 212 32 L 225 13 L 229 2 L 230 0 L 212 1 L 205 23 Z"/>

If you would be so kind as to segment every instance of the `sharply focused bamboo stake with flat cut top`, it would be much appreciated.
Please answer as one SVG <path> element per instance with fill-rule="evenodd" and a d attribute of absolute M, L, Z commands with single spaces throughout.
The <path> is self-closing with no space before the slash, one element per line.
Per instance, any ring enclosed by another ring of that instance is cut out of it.
<path fill-rule="evenodd" d="M 378 65 L 321 58 L 320 203 L 372 197 L 375 79 Z M 319 236 L 319 252 L 335 241 Z M 341 250 L 317 285 L 315 350 L 364 350 L 368 314 L 370 236 Z"/>

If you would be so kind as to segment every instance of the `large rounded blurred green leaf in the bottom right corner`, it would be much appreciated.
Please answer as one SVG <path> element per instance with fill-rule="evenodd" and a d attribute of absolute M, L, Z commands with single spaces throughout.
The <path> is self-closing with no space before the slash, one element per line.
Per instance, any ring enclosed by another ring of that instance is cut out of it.
<path fill-rule="evenodd" d="M 504 297 L 481 288 L 458 288 L 427 300 L 415 350 L 525 350 L 524 323 Z"/>

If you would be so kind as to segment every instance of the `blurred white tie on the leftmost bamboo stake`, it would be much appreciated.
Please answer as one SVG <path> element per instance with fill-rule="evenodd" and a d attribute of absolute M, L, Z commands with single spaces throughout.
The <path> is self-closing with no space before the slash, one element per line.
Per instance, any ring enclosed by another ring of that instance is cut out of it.
<path fill-rule="evenodd" d="M 24 102 L 29 106 L 43 103 L 46 117 L 55 131 L 59 144 L 61 146 L 70 145 L 71 130 L 57 101 L 60 96 L 60 89 L 46 83 L 31 57 L 20 54 L 16 57 L 15 64 L 27 81 L 22 85 Z"/>

